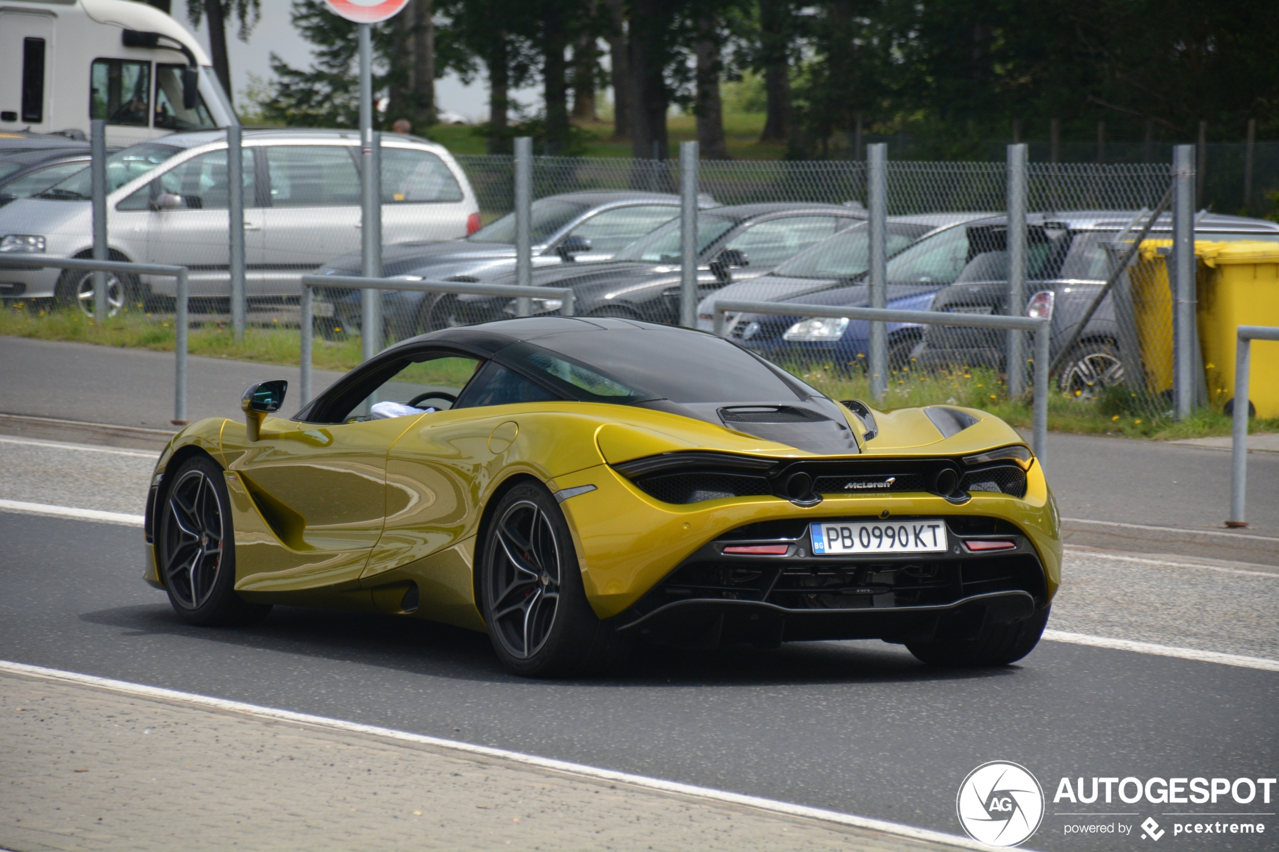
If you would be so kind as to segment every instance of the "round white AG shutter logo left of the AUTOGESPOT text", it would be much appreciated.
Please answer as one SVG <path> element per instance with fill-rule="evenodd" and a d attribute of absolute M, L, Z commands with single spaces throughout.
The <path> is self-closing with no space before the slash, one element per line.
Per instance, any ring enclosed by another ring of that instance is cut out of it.
<path fill-rule="evenodd" d="M 1044 788 L 1024 766 L 993 760 L 959 784 L 955 812 L 959 825 L 978 843 L 1017 846 L 1044 821 Z"/>

